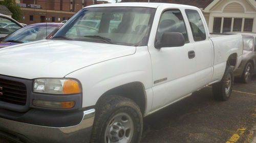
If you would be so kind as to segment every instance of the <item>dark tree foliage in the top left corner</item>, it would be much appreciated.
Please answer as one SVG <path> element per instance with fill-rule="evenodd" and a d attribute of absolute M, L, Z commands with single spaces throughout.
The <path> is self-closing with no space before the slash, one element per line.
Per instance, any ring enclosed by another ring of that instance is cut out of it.
<path fill-rule="evenodd" d="M 0 5 L 6 6 L 12 12 L 12 18 L 20 20 L 22 17 L 22 10 L 13 0 L 4 0 L 0 2 Z"/>

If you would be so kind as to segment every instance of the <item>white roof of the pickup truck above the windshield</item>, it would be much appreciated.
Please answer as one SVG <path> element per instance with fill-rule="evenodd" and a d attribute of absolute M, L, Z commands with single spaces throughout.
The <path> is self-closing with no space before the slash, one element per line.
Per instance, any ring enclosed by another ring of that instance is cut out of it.
<path fill-rule="evenodd" d="M 169 7 L 185 7 L 185 8 L 196 8 L 194 6 L 179 5 L 179 4 L 168 4 L 168 3 L 111 3 L 111 4 L 100 4 L 91 5 L 85 8 L 95 8 L 95 7 L 145 7 L 145 8 L 157 8 L 159 6 L 169 6 Z"/>

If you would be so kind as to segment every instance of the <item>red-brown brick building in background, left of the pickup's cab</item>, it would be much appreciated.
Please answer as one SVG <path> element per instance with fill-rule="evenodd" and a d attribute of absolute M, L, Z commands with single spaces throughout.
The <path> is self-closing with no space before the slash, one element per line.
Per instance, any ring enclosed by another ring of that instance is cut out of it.
<path fill-rule="evenodd" d="M 20 23 L 61 22 L 81 8 L 94 5 L 96 0 L 16 0 L 22 11 Z"/>

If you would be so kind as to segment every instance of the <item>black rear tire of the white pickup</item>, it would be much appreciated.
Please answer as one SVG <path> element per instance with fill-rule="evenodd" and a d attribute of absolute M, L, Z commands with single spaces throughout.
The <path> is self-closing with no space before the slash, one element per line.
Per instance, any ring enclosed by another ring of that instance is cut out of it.
<path fill-rule="evenodd" d="M 227 79 L 229 78 L 230 78 L 230 81 L 228 82 Z M 212 85 L 212 94 L 214 95 L 214 98 L 216 100 L 221 100 L 221 101 L 228 100 L 232 93 L 233 81 L 234 81 L 233 68 L 230 66 L 227 66 L 221 81 L 214 83 Z M 229 90 L 227 88 L 226 83 L 228 83 Z"/>

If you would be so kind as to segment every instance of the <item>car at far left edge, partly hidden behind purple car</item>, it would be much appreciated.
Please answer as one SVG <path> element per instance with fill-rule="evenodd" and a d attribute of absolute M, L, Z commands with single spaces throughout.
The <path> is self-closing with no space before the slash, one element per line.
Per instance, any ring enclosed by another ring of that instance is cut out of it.
<path fill-rule="evenodd" d="M 23 25 L 7 15 L 0 14 L 0 38 L 22 28 Z"/>

